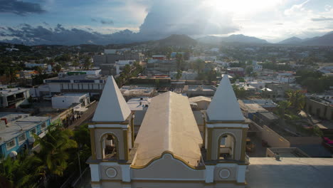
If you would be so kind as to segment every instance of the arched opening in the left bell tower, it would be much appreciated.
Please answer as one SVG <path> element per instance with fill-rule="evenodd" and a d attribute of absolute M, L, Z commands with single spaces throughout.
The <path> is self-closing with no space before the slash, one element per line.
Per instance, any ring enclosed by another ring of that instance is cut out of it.
<path fill-rule="evenodd" d="M 105 134 L 101 139 L 102 159 L 119 160 L 118 140 L 115 135 Z"/>

